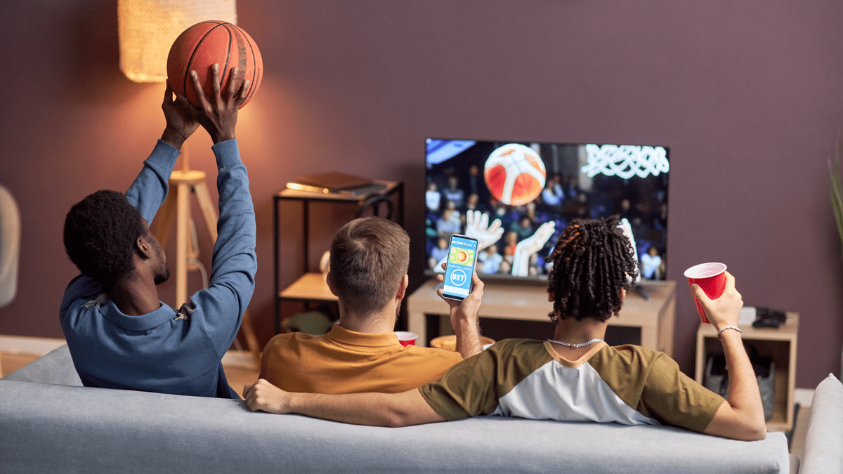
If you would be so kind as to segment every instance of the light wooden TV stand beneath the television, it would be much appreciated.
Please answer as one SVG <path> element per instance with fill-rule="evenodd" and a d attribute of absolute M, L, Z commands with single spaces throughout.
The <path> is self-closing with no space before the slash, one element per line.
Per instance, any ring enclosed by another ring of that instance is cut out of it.
<path fill-rule="evenodd" d="M 432 278 L 417 288 L 407 299 L 407 330 L 418 335 L 416 345 L 427 346 L 427 316 L 448 318 L 448 304 L 436 294 L 438 283 Z M 632 326 L 641 329 L 641 345 L 673 356 L 674 319 L 676 317 L 676 282 L 639 283 L 649 295 L 629 292 L 618 317 L 609 326 Z M 639 286 L 636 285 L 636 286 Z M 483 289 L 481 318 L 504 320 L 547 321 L 553 305 L 547 300 L 547 284 L 525 285 L 490 281 Z M 447 327 L 447 323 L 445 325 Z M 430 335 L 437 337 L 438 334 Z M 548 334 L 550 337 L 550 334 Z"/>

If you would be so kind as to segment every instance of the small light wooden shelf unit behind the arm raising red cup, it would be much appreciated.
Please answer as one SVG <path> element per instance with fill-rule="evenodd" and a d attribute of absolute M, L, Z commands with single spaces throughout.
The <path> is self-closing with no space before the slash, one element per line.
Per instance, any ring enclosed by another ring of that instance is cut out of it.
<path fill-rule="evenodd" d="M 796 349 L 799 331 L 799 314 L 787 313 L 787 322 L 778 329 L 740 326 L 744 342 L 752 344 L 760 356 L 771 357 L 776 364 L 773 374 L 773 414 L 767 422 L 769 431 L 789 431 L 793 428 L 793 392 L 796 387 Z M 698 383 L 702 383 L 706 357 L 722 353 L 717 331 L 710 324 L 700 324 L 696 332 L 696 369 Z"/>

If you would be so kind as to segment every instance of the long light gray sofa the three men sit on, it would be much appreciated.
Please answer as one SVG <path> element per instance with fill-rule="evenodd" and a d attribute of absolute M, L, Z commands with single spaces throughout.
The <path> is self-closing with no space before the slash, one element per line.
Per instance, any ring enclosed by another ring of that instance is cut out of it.
<path fill-rule="evenodd" d="M 781 433 L 741 442 L 679 428 L 504 417 L 372 428 L 253 413 L 240 401 L 78 385 L 67 347 L 0 379 L 0 472 L 676 474 L 790 466 Z M 839 456 L 818 462 L 841 466 Z"/>

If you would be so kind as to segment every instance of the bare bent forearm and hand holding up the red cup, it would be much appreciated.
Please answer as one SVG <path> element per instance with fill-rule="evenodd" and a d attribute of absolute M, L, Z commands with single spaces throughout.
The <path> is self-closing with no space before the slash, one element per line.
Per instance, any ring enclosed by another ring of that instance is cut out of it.
<path fill-rule="evenodd" d="M 738 326 L 738 314 L 744 301 L 735 289 L 735 279 L 730 273 L 726 273 L 726 288 L 718 299 L 708 299 L 696 285 L 692 289 L 717 330 Z M 728 329 L 722 331 L 721 338 L 729 372 L 729 398 L 717 409 L 704 433 L 746 441 L 764 439 L 767 428 L 758 379 L 749 363 L 741 334 Z"/>

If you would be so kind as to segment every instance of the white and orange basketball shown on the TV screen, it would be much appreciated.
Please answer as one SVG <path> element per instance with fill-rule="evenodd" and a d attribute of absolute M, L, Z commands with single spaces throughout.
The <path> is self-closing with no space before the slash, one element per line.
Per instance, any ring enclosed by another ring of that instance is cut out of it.
<path fill-rule="evenodd" d="M 491 196 L 507 206 L 522 206 L 545 188 L 545 162 L 533 148 L 510 143 L 491 152 L 483 177 Z"/>

